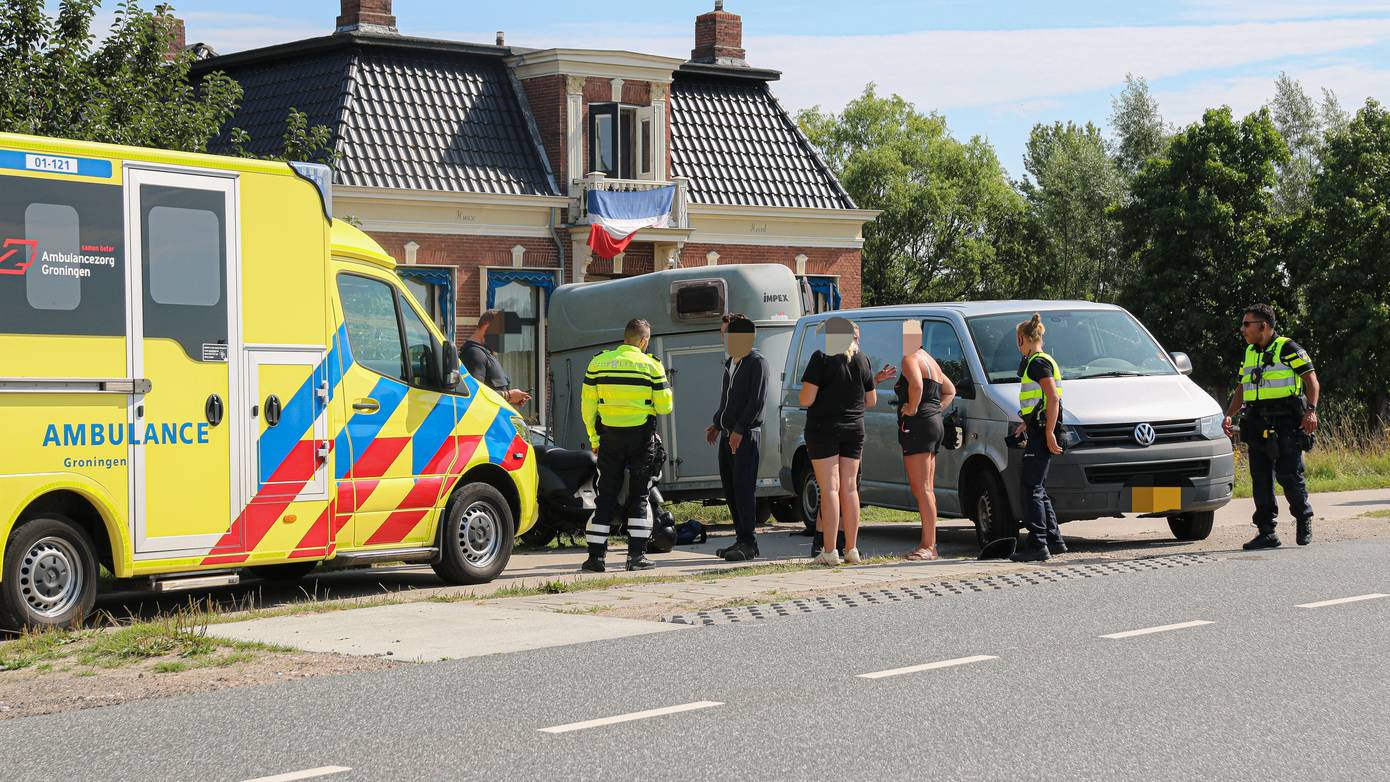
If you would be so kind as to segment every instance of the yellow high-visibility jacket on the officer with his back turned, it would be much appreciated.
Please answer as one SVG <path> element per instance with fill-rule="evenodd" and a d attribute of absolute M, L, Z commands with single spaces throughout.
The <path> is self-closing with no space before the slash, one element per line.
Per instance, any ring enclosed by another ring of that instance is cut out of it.
<path fill-rule="evenodd" d="M 671 385 L 662 363 L 631 344 L 605 350 L 589 361 L 580 393 L 589 443 L 599 444 L 605 426 L 641 426 L 652 415 L 671 411 Z"/>

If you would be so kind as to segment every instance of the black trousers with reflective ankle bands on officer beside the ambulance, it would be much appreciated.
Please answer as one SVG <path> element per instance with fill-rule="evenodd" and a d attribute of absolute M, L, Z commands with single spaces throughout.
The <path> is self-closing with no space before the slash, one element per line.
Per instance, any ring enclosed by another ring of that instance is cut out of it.
<path fill-rule="evenodd" d="M 641 426 L 603 426 L 599 439 L 599 485 L 594 518 L 585 529 L 589 556 L 603 558 L 613 529 L 617 497 L 627 476 L 627 556 L 639 557 L 652 536 L 652 514 L 646 504 L 656 456 L 656 426 L 651 418 Z"/>

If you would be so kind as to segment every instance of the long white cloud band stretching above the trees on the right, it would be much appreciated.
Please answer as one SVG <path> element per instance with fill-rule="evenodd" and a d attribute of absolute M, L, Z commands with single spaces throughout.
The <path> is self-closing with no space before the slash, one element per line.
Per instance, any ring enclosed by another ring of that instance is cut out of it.
<path fill-rule="evenodd" d="M 877 82 L 922 108 L 991 107 L 1390 42 L 1390 19 L 1204 26 L 931 31 L 880 36 L 770 36 L 749 61 L 781 69 L 788 107 L 838 108 Z"/>

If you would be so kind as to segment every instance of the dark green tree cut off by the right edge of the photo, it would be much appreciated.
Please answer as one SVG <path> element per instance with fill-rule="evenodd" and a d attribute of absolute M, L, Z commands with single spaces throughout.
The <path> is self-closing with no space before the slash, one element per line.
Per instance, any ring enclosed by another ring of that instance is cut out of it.
<path fill-rule="evenodd" d="M 1390 111 L 1368 100 L 1327 136 L 1304 222 L 1308 343 L 1330 399 L 1390 421 Z"/>

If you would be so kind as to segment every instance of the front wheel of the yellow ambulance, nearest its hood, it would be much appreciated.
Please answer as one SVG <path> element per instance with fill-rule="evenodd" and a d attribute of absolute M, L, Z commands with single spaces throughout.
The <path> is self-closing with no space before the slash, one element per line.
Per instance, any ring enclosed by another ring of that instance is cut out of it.
<path fill-rule="evenodd" d="M 459 486 L 439 533 L 434 571 L 449 583 L 486 583 L 512 558 L 516 522 L 507 500 L 486 483 Z"/>

